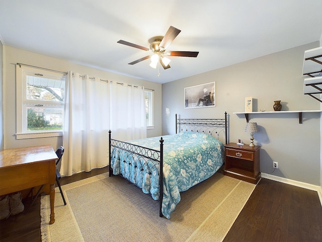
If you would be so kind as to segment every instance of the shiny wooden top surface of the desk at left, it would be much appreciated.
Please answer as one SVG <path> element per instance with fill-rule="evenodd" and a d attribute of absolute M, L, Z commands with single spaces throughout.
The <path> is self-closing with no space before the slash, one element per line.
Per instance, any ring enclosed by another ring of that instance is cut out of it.
<path fill-rule="evenodd" d="M 57 159 L 51 145 L 5 149 L 0 151 L 0 169 L 12 165 Z"/>

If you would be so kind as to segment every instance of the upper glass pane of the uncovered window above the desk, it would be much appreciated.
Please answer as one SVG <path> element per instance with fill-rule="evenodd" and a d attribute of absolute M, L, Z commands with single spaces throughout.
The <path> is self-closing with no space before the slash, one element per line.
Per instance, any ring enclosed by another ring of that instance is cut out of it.
<path fill-rule="evenodd" d="M 65 80 L 54 77 L 38 77 L 27 74 L 26 99 L 64 101 Z"/>

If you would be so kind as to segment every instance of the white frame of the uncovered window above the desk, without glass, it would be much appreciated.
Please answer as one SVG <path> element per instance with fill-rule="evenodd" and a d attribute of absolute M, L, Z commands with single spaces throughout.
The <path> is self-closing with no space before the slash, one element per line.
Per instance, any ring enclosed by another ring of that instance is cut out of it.
<path fill-rule="evenodd" d="M 26 98 L 27 90 L 27 74 L 40 74 L 45 77 L 65 78 L 65 93 L 66 97 L 66 74 L 62 72 L 55 72 L 50 70 L 43 70 L 36 67 L 16 66 L 16 139 L 33 139 L 33 138 L 47 138 L 62 136 L 63 130 L 46 130 L 46 131 L 27 131 L 27 107 L 37 104 L 43 107 L 60 107 L 64 112 L 64 101 L 44 101 L 44 100 L 30 100 Z M 64 113 L 62 114 L 64 118 Z"/>

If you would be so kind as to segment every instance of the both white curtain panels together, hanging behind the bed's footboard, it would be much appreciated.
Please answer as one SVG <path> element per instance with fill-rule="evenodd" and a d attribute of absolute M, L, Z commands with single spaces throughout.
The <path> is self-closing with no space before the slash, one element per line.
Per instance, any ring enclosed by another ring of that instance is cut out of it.
<path fill-rule="evenodd" d="M 107 166 L 109 130 L 113 139 L 146 138 L 144 88 L 69 72 L 60 173 Z"/>

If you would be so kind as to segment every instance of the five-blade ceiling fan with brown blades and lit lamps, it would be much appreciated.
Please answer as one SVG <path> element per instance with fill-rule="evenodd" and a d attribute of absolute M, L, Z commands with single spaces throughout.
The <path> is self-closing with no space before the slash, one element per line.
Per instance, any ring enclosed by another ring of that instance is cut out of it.
<path fill-rule="evenodd" d="M 152 68 L 156 68 L 156 66 L 158 66 L 159 69 L 159 65 L 161 64 L 162 67 L 166 70 L 168 68 L 170 68 L 170 59 L 167 58 L 165 55 L 168 56 L 185 56 L 185 57 L 197 57 L 199 52 L 196 51 L 172 51 L 172 50 L 166 50 L 168 48 L 168 46 L 172 43 L 172 41 L 178 36 L 178 34 L 181 32 L 180 29 L 177 29 L 173 26 L 170 26 L 170 28 L 168 29 L 167 33 L 165 36 L 155 36 L 149 39 L 149 43 L 150 43 L 150 48 L 146 48 L 137 44 L 133 44 L 124 40 L 119 40 L 117 41 L 120 44 L 125 44 L 131 47 L 135 47 L 138 49 L 143 49 L 145 51 L 151 51 L 152 54 L 144 56 L 142 58 L 137 59 L 134 62 L 129 63 L 129 65 L 134 65 L 136 63 L 142 62 L 145 59 L 150 58 L 151 63 L 150 63 L 150 67 Z M 158 73 L 158 76 L 160 75 L 160 73 Z"/>

